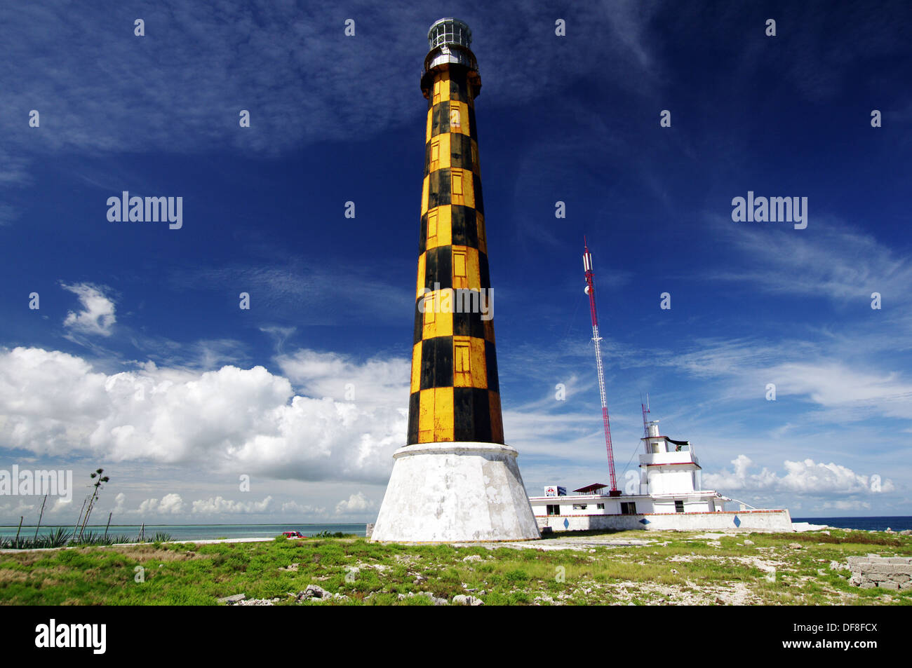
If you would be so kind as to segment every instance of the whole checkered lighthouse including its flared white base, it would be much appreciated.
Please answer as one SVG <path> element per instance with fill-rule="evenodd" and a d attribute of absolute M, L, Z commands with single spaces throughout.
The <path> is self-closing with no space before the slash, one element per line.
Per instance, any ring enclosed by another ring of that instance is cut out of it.
<path fill-rule="evenodd" d="M 371 540 L 534 540 L 517 452 L 503 439 L 472 31 L 441 18 L 428 41 L 408 437 Z"/>

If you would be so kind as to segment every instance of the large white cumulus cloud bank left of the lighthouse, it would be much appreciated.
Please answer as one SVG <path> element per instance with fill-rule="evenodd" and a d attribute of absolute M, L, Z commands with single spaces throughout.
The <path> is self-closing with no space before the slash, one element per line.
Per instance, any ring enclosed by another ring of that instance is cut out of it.
<path fill-rule="evenodd" d="M 319 391 L 340 368 L 373 401 L 299 396 L 263 366 L 196 372 L 147 364 L 109 375 L 59 351 L 0 348 L 0 439 L 39 455 L 88 451 L 113 462 L 385 483 L 392 453 L 405 443 L 408 388 L 381 397 L 405 386 L 408 363 L 358 365 L 309 351 L 289 359 L 298 360 L 302 385 Z M 346 377 L 338 379 L 343 392 Z"/>

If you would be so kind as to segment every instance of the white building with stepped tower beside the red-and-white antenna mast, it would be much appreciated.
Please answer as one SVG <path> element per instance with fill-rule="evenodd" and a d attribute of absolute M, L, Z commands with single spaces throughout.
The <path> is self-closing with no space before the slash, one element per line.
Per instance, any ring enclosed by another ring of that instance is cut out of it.
<path fill-rule="evenodd" d="M 529 498 L 539 529 L 792 530 L 787 509 L 739 502 L 740 509 L 726 510 L 731 498 L 702 488 L 700 460 L 689 441 L 659 435 L 658 420 L 648 423 L 641 440 L 637 488 L 613 496 L 596 483 L 567 495 L 565 488 L 548 486 L 543 497 Z"/>

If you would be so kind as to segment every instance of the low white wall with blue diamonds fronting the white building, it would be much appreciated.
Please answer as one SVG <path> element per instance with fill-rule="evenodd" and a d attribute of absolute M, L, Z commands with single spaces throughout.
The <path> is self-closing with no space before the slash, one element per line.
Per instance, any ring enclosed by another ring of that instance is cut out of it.
<path fill-rule="evenodd" d="M 735 518 L 738 523 L 735 523 Z M 647 519 L 647 523 L 643 523 Z M 590 529 L 646 529 L 679 531 L 791 531 L 788 510 L 739 510 L 719 512 L 646 513 L 643 515 L 536 516 L 538 528 L 553 531 Z M 566 520 L 566 526 L 565 526 Z"/>

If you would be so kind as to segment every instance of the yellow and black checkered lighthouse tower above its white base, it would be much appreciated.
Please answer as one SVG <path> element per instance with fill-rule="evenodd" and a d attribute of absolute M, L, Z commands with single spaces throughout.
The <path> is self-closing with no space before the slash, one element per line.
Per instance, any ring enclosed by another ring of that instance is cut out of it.
<path fill-rule="evenodd" d="M 478 300 L 466 299 L 477 294 L 453 293 L 491 295 L 474 109 L 482 79 L 469 26 L 443 18 L 428 39 L 408 443 L 503 444 L 493 321 L 482 319 Z"/>

